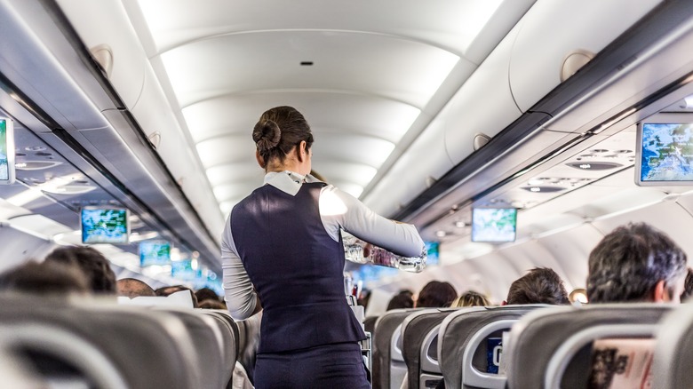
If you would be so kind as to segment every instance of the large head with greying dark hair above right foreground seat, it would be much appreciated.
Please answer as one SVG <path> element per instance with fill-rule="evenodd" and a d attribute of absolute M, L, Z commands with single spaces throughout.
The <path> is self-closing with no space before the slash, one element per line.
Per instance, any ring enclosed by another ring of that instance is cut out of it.
<path fill-rule="evenodd" d="M 645 223 L 619 226 L 589 257 L 590 303 L 679 302 L 686 254 L 666 234 Z"/>

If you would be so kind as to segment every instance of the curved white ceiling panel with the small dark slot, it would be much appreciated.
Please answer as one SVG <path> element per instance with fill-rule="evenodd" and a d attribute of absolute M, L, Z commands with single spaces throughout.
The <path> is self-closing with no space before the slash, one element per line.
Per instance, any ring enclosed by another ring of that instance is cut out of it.
<path fill-rule="evenodd" d="M 181 107 L 227 93 L 287 89 L 369 91 L 424 107 L 459 60 L 428 44 L 341 31 L 218 36 L 161 55 Z"/>

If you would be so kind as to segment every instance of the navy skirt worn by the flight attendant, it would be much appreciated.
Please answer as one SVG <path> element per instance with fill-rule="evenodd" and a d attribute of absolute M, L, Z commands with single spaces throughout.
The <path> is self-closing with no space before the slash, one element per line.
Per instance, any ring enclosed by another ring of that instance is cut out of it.
<path fill-rule="evenodd" d="M 256 389 L 370 388 L 358 343 L 259 353 L 254 381 Z"/>

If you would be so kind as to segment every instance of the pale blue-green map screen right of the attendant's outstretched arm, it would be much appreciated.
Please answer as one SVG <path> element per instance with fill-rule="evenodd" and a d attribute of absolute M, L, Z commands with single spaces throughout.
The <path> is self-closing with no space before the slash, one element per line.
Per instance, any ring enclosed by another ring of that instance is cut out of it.
<path fill-rule="evenodd" d="M 514 242 L 516 223 L 514 208 L 474 208 L 472 242 Z"/>

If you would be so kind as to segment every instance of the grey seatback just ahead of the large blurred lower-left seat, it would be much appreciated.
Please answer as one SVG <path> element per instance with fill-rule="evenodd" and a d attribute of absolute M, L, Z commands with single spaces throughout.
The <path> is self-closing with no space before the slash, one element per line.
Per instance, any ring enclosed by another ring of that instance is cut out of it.
<path fill-rule="evenodd" d="M 155 307 L 155 311 L 172 314 L 185 324 L 195 345 L 195 371 L 200 377 L 200 387 L 226 387 L 234 367 L 224 365 L 220 345 L 223 341 L 218 322 L 207 314 L 198 314 L 193 309 Z M 228 379 L 225 380 L 225 377 Z"/>

